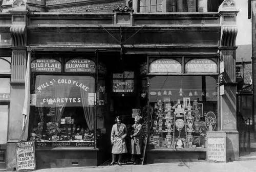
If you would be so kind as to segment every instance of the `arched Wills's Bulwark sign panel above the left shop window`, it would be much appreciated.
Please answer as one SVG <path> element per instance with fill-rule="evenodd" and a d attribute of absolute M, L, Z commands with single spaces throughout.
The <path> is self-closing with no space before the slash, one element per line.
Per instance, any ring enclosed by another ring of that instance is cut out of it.
<path fill-rule="evenodd" d="M 66 62 L 65 72 L 95 73 L 95 63 L 88 59 L 72 59 Z"/>

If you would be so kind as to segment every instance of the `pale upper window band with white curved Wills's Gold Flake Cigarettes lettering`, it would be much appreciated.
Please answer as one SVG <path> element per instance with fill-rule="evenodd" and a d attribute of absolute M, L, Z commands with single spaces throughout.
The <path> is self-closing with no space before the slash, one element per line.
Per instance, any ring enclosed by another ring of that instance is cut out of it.
<path fill-rule="evenodd" d="M 94 104 L 94 78 L 91 76 L 36 77 L 37 107 L 88 106 Z"/>

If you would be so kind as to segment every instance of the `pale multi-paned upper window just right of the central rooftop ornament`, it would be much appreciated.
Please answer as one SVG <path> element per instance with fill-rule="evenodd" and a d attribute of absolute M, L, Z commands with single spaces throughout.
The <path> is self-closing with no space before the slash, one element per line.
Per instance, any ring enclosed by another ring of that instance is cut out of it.
<path fill-rule="evenodd" d="M 139 0 L 139 12 L 162 12 L 162 0 Z"/>

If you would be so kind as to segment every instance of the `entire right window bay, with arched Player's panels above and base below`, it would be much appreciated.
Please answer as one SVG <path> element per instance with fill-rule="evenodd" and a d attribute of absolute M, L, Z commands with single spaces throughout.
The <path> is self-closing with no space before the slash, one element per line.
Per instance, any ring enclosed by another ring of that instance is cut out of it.
<path fill-rule="evenodd" d="M 218 130 L 218 57 L 150 57 L 147 162 L 206 160 Z"/>

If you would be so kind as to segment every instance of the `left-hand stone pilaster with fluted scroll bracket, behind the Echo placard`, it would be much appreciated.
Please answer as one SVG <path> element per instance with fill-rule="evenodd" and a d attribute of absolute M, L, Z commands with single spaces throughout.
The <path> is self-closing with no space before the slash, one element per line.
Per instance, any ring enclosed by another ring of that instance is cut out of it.
<path fill-rule="evenodd" d="M 10 27 L 12 59 L 6 168 L 7 170 L 13 170 L 16 167 L 15 143 L 19 141 L 20 136 L 22 135 L 22 111 L 25 98 L 25 74 L 27 63 L 27 5 L 22 0 L 14 1 L 12 10 L 9 12 L 12 14 L 12 24 Z"/>

